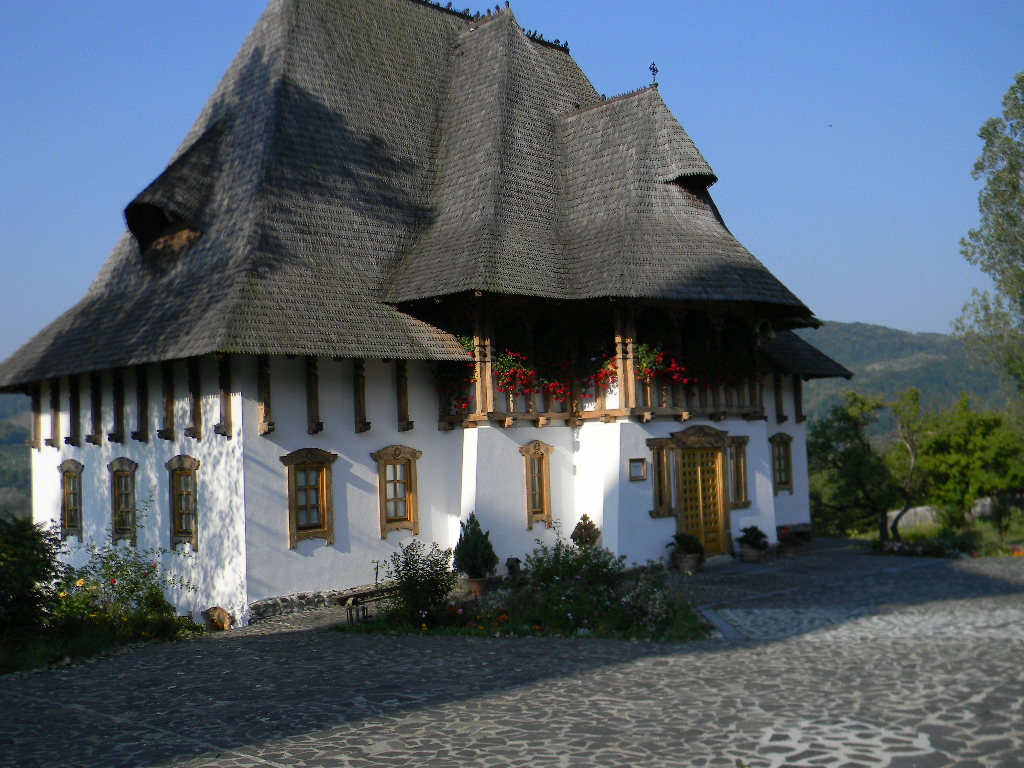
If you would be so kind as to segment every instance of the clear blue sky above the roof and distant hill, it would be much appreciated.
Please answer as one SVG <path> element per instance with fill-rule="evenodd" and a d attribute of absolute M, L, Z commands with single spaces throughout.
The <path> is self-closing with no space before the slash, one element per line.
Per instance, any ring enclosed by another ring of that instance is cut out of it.
<path fill-rule="evenodd" d="M 0 4 L 0 357 L 84 295 L 124 206 L 163 170 L 262 8 Z M 512 9 L 568 40 L 608 95 L 646 85 L 657 62 L 663 97 L 719 176 L 726 223 L 818 317 L 947 332 L 987 286 L 958 243 L 978 219 L 978 128 L 1024 70 L 1020 0 Z"/>

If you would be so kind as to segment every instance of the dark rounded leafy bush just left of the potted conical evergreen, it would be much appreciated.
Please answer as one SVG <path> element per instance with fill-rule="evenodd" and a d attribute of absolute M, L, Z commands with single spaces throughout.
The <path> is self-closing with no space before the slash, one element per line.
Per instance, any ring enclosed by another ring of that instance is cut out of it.
<path fill-rule="evenodd" d="M 431 611 L 442 609 L 455 589 L 458 577 L 452 570 L 452 550 L 414 539 L 399 545 L 387 564 L 388 579 L 394 582 L 388 597 L 391 609 L 402 620 L 417 622 Z"/>

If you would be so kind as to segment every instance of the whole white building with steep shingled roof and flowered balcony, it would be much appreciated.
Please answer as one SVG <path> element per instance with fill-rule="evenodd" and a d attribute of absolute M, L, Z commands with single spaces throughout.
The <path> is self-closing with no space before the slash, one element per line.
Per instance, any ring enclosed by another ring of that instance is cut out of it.
<path fill-rule="evenodd" d="M 374 581 L 475 511 L 630 559 L 809 520 L 801 383 L 848 376 L 650 87 L 510 10 L 273 0 L 88 294 L 0 367 L 33 509 L 195 556 L 182 609 Z M 126 545 L 127 546 L 127 545 Z"/>

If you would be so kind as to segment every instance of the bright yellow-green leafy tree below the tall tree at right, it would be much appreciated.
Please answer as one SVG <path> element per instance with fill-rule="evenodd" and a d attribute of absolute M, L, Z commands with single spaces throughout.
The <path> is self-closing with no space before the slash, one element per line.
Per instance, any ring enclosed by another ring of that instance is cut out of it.
<path fill-rule="evenodd" d="M 1024 438 L 1000 414 L 972 410 L 964 395 L 938 415 L 922 444 L 921 464 L 943 526 L 962 529 L 970 526 L 968 513 L 979 499 L 1006 507 L 1024 487 Z"/>

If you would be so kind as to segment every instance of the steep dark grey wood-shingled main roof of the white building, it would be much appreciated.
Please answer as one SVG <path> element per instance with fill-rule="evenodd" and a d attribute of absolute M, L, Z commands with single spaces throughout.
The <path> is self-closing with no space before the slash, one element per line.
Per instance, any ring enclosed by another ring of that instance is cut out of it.
<path fill-rule="evenodd" d="M 131 232 L 0 386 L 209 352 L 460 358 L 400 306 L 474 290 L 808 321 L 725 228 L 712 181 L 656 89 L 603 101 L 511 11 L 271 0 L 126 208 Z M 162 224 L 198 236 L 142 252 Z"/>

